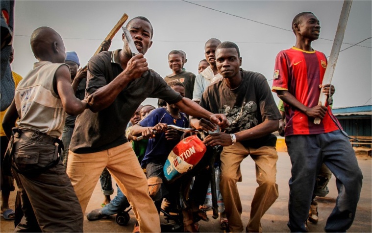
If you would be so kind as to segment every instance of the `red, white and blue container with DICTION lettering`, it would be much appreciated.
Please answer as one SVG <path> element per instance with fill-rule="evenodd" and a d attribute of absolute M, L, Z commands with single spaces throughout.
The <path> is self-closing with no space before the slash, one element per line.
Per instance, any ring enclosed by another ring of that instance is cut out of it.
<path fill-rule="evenodd" d="M 198 138 L 192 135 L 178 142 L 164 164 L 163 172 L 168 181 L 174 181 L 193 169 L 203 157 L 207 147 Z"/>

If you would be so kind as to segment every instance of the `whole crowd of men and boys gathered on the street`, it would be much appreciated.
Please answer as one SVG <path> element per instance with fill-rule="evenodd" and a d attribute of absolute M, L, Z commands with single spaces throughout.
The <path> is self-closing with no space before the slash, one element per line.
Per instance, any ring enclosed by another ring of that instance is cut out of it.
<path fill-rule="evenodd" d="M 204 70 L 198 75 L 184 70 L 186 54 L 173 50 L 168 55 L 172 73 L 163 78 L 149 69 L 144 57 L 152 46 L 153 25 L 139 16 L 125 27 L 139 54 L 132 56 L 123 34 L 123 48 L 102 49 L 90 59 L 87 70 L 73 68 L 79 66 L 75 54 L 66 60 L 62 37 L 54 29 L 42 26 L 33 31 L 30 46 L 38 62 L 15 89 L 11 85 L 6 90 L 13 92 L 6 97 L 14 98 L 2 118 L 9 143 L 1 154 L 1 181 L 3 174 L 14 177 L 21 208 L 5 214 L 9 206 L 2 199 L 1 214 L 14 218 L 17 210 L 21 212 L 15 231 L 83 232 L 88 202 L 102 171 L 107 169 L 124 194 L 122 200 L 125 198 L 133 208 L 137 220 L 134 231 L 161 232 L 160 202 L 166 198 L 172 203 L 168 194 L 174 192 L 174 186 L 164 182 L 162 166 L 181 139 L 179 132 L 167 127 L 174 124 L 207 132 L 222 129 L 209 134 L 203 143 L 223 146 L 219 185 L 228 222 L 225 230 L 262 232 L 261 218 L 279 192 L 273 132 L 278 130 L 282 116 L 273 92 L 284 102 L 285 141 L 292 163 L 288 227 L 291 232 L 308 231 L 314 186 L 324 163 L 336 177 L 339 192 L 325 231 L 349 229 L 363 176 L 330 106 L 318 105 L 320 94 L 331 96 L 334 87 L 322 85 L 327 59 L 311 46 L 321 28 L 313 13 L 302 12 L 294 18 L 296 45 L 278 53 L 272 87 L 261 73 L 241 68 L 242 57 L 235 43 L 216 38 L 205 44 L 209 66 L 200 63 L 206 68 L 201 68 Z M 11 46 L 5 43 L 3 47 L 2 34 L 1 55 Z M 2 81 L 1 76 L 1 86 Z M 134 125 L 126 137 L 129 121 L 148 97 L 163 100 L 164 107 L 153 110 L 140 122 L 132 121 Z M 64 129 L 67 115 L 77 117 Z M 321 123 L 315 124 L 315 118 Z M 68 130 L 69 145 L 65 143 L 67 148 L 63 148 L 60 138 Z M 154 130 L 161 134 L 154 134 Z M 128 141 L 138 136 L 148 139 L 141 159 Z M 237 182 L 242 181 L 240 164 L 248 155 L 256 165 L 258 187 L 244 228 Z M 191 194 L 196 202 L 193 211 L 198 212 L 208 181 L 198 177 L 194 186 L 203 187 L 193 190 L 198 194 Z M 11 187 L 7 186 L 7 193 Z M 96 214 L 101 217 L 102 211 Z"/>

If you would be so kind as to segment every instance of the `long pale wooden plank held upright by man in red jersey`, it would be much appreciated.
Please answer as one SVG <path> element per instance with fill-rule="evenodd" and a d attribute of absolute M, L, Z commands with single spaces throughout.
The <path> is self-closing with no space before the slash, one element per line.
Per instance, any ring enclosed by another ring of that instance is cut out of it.
<path fill-rule="evenodd" d="M 337 63 L 338 55 L 340 53 L 342 41 L 344 40 L 344 34 L 345 34 L 347 19 L 350 13 L 351 3 L 352 3 L 352 0 L 344 0 L 344 4 L 342 6 L 342 10 L 340 14 L 340 20 L 337 26 L 335 40 L 333 41 L 331 55 L 329 57 L 327 68 L 325 69 L 322 85 L 329 84 L 332 81 L 332 76 L 336 68 L 336 63 Z M 319 96 L 318 105 L 325 106 L 326 102 L 327 102 L 327 95 L 321 92 Z M 314 124 L 320 124 L 320 123 L 321 123 L 320 118 L 314 119 Z"/>

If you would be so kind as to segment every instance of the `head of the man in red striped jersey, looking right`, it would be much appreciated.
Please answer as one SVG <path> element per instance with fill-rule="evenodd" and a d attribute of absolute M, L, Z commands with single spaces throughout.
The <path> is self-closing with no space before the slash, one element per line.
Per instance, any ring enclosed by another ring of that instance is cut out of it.
<path fill-rule="evenodd" d="M 313 14 L 306 14 L 301 17 L 298 24 L 298 33 L 304 38 L 315 41 L 319 39 L 321 32 L 321 23 L 318 18 Z"/>

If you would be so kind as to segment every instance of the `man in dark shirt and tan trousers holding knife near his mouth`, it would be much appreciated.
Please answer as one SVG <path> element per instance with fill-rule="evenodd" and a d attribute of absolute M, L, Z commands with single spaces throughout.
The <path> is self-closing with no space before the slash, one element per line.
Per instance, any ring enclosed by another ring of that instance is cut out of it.
<path fill-rule="evenodd" d="M 164 99 L 188 115 L 207 118 L 222 127 L 226 117 L 183 98 L 149 69 L 144 54 L 152 45 L 153 29 L 147 18 L 136 17 L 126 28 L 140 54 L 132 57 L 123 34 L 123 49 L 101 52 L 89 61 L 89 109 L 76 118 L 67 174 L 85 212 L 99 175 L 107 167 L 132 205 L 140 232 L 160 232 L 159 215 L 149 196 L 146 176 L 125 138 L 130 117 L 147 97 Z"/>

